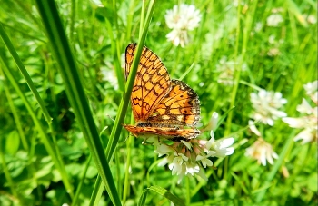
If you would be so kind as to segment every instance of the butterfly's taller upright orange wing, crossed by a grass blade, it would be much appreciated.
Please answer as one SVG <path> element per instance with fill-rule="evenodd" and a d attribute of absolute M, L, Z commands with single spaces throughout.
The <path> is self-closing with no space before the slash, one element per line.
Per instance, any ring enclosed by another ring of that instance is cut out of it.
<path fill-rule="evenodd" d="M 125 77 L 128 77 L 137 44 L 129 44 L 125 52 Z M 164 96 L 171 90 L 169 74 L 159 57 L 143 47 L 131 95 L 136 122 L 146 122 Z"/>

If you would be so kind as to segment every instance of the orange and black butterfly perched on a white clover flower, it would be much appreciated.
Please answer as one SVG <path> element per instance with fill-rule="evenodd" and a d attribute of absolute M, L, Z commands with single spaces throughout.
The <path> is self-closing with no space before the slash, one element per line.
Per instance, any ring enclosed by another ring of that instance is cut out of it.
<path fill-rule="evenodd" d="M 137 44 L 129 44 L 125 52 L 125 77 L 128 77 Z M 200 120 L 198 95 L 187 84 L 171 80 L 159 57 L 143 47 L 131 103 L 136 126 L 124 125 L 134 136 L 156 135 L 180 142 L 196 138 L 194 126 Z M 184 128 L 188 126 L 190 128 Z"/>

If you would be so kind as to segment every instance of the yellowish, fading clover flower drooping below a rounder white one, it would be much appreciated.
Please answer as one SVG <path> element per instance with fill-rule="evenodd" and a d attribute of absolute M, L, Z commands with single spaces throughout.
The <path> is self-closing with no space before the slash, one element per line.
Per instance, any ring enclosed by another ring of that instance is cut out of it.
<path fill-rule="evenodd" d="M 246 149 L 245 155 L 257 160 L 257 162 L 263 166 L 266 166 L 266 162 L 273 164 L 273 158 L 278 158 L 277 153 L 273 152 L 272 145 L 265 142 L 261 137 L 258 138 L 252 146 Z"/>

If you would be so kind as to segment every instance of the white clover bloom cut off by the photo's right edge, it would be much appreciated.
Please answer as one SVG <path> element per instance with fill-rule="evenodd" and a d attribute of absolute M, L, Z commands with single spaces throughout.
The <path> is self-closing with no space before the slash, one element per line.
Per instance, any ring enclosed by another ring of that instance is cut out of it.
<path fill-rule="evenodd" d="M 316 85 L 317 81 L 313 83 L 307 83 L 303 86 L 306 93 L 311 96 L 313 93 L 317 93 Z M 313 98 L 312 98 L 313 99 Z M 314 102 L 314 100 L 313 100 Z M 317 102 L 314 102 L 318 105 Z M 302 129 L 294 138 L 293 141 L 302 140 L 302 144 L 308 142 L 314 142 L 318 140 L 318 107 L 312 107 L 305 99 L 297 106 L 297 111 L 304 114 L 302 117 L 285 117 L 284 123 L 288 123 L 290 127 Z"/>

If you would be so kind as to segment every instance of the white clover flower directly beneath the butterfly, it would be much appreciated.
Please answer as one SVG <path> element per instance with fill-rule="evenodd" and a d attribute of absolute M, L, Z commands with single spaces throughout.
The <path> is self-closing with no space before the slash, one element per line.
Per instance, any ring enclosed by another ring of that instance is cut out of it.
<path fill-rule="evenodd" d="M 224 157 L 231 155 L 234 148 L 230 147 L 234 143 L 234 138 L 215 141 L 214 133 L 211 131 L 211 139 L 174 142 L 172 145 L 164 142 L 154 142 L 155 152 L 159 156 L 166 155 L 158 165 L 168 164 L 173 175 L 178 175 L 180 182 L 184 175 L 197 175 L 207 180 L 201 168 L 213 166 L 210 157 Z"/>

